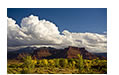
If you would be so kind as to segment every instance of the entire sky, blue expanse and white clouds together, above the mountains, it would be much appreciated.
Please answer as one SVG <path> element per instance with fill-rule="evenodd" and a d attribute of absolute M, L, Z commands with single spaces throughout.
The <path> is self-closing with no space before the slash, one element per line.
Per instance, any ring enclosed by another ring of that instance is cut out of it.
<path fill-rule="evenodd" d="M 107 51 L 106 8 L 8 8 L 8 50 L 21 47 L 85 47 Z"/>

